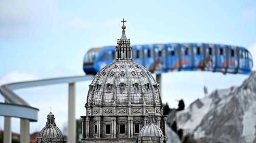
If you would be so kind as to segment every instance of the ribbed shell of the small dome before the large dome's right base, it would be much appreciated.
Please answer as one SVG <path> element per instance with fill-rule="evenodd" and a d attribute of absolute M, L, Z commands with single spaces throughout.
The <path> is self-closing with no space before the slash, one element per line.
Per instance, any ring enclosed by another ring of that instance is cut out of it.
<path fill-rule="evenodd" d="M 147 123 L 140 130 L 139 136 L 163 136 L 163 132 L 155 123 Z"/>

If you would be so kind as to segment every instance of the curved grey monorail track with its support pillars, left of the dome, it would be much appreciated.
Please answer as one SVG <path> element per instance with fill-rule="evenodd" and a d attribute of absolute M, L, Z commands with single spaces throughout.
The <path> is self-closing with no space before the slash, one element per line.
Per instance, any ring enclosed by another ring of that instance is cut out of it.
<path fill-rule="evenodd" d="M 50 84 L 58 83 L 69 83 L 69 125 L 70 128 L 75 128 L 75 82 L 92 80 L 94 75 L 86 76 L 73 76 L 73 77 L 62 77 L 62 78 L 51 78 L 51 79 L 42 79 L 35 81 L 26 81 L 26 82 L 16 82 L 5 84 L 0 87 L 0 93 L 5 98 L 6 103 L 0 103 L 0 116 L 5 116 L 5 137 L 4 143 L 9 143 L 11 141 L 10 134 L 10 118 L 17 117 L 20 118 L 20 142 L 29 141 L 29 122 L 37 121 L 37 112 L 39 109 L 30 106 L 25 100 L 20 98 L 17 94 L 14 93 L 14 90 L 24 89 L 30 87 L 37 87 Z M 70 115 L 71 113 L 71 115 Z M 74 118 L 74 119 L 73 119 Z M 70 121 L 71 120 L 71 121 Z M 74 122 L 74 123 L 73 123 Z M 73 127 L 74 126 L 74 127 Z M 69 129 L 73 130 L 73 129 Z M 73 130 L 74 131 L 74 130 Z M 72 138 L 73 136 L 69 136 Z"/>

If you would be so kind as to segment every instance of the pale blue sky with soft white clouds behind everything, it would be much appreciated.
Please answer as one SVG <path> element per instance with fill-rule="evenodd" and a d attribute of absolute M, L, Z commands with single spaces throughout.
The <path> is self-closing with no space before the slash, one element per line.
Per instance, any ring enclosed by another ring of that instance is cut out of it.
<path fill-rule="evenodd" d="M 84 54 L 92 47 L 116 45 L 123 18 L 133 45 L 220 43 L 246 47 L 256 57 L 256 1 L 0 0 L 0 84 L 84 75 Z M 211 93 L 238 86 L 247 77 L 200 71 L 165 73 L 162 100 L 177 107 L 183 99 L 188 106 L 204 96 L 204 85 Z M 77 119 L 86 113 L 89 84 L 76 84 Z M 15 93 L 39 109 L 38 122 L 30 123 L 30 132 L 45 126 L 50 106 L 63 131 L 68 119 L 68 84 Z M 0 102 L 4 102 L 2 96 Z M 12 131 L 19 129 L 19 119 L 12 118 Z"/>

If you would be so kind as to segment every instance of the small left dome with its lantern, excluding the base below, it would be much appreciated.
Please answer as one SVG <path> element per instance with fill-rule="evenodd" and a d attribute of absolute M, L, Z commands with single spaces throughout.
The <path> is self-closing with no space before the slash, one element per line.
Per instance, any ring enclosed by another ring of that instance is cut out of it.
<path fill-rule="evenodd" d="M 52 112 L 47 115 L 46 126 L 42 128 L 39 137 L 63 137 L 61 131 L 55 124 L 55 118 Z"/>

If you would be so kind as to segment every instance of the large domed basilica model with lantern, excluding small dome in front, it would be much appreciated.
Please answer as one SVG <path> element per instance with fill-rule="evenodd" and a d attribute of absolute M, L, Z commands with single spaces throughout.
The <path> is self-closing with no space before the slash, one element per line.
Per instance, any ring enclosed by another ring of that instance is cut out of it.
<path fill-rule="evenodd" d="M 134 62 L 130 39 L 117 41 L 116 59 L 105 66 L 89 85 L 86 116 L 81 116 L 81 142 L 136 142 L 148 113 L 166 138 L 159 84 L 147 69 Z"/>

